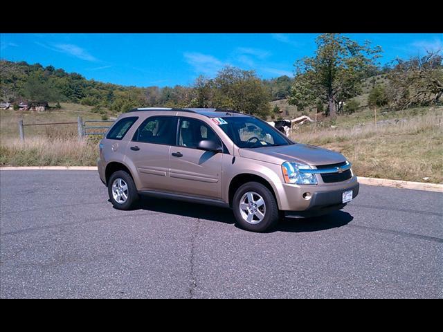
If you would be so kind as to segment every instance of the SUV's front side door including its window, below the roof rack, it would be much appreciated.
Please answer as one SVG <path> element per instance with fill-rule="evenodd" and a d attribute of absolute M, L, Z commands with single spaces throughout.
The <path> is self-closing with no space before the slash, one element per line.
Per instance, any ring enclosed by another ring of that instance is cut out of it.
<path fill-rule="evenodd" d="M 214 140 L 221 145 L 219 137 L 208 124 L 195 118 L 180 118 L 178 130 L 178 146 L 170 150 L 172 191 L 220 199 L 224 155 L 197 149 L 201 140 Z"/>

